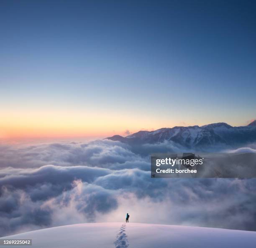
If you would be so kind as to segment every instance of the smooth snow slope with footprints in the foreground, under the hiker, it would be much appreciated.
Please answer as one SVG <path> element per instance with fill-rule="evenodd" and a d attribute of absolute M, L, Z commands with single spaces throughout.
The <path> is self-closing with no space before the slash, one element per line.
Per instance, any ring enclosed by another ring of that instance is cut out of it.
<path fill-rule="evenodd" d="M 1 239 L 5 238 L 30 238 L 34 248 L 254 248 L 256 232 L 142 223 L 87 223 Z"/>

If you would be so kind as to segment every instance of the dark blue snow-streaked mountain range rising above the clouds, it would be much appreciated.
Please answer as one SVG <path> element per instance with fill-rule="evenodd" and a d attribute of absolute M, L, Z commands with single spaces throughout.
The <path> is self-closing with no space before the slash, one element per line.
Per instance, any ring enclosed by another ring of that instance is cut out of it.
<path fill-rule="evenodd" d="M 256 142 L 256 120 L 247 126 L 232 127 L 224 122 L 191 127 L 161 128 L 156 131 L 139 131 L 122 137 L 108 137 L 131 145 L 172 142 L 186 148 L 201 149 L 203 147 L 225 146 L 237 147 Z"/>

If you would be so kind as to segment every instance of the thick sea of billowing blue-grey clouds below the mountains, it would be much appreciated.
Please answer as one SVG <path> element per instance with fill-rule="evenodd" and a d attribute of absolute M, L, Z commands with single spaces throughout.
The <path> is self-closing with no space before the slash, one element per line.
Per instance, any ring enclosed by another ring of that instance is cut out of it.
<path fill-rule="evenodd" d="M 163 145 L 173 149 L 154 149 Z M 0 145 L 0 236 L 126 213 L 132 222 L 256 231 L 256 179 L 152 179 L 146 148 L 106 139 Z"/>

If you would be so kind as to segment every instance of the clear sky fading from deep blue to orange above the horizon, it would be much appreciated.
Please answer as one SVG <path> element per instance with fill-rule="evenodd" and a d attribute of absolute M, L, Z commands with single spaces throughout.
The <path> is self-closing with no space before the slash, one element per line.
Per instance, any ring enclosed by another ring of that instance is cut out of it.
<path fill-rule="evenodd" d="M 2 138 L 244 125 L 256 1 L 1 0 L 0 92 Z"/>

